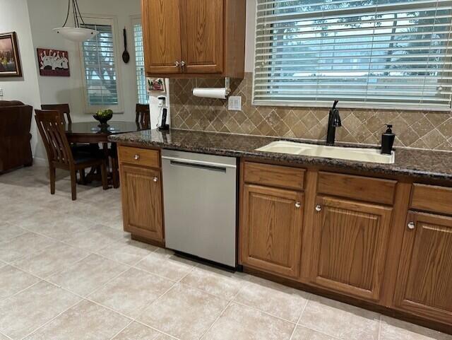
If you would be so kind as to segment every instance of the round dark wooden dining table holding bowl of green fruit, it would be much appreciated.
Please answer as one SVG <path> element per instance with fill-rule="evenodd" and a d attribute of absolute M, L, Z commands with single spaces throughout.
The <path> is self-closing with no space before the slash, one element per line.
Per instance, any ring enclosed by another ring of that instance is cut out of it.
<path fill-rule="evenodd" d="M 149 124 L 140 122 L 119 122 L 112 121 L 108 122 L 107 125 L 102 126 L 97 121 L 90 122 L 72 122 L 66 124 L 66 136 L 69 143 L 93 143 L 102 144 L 102 149 L 105 153 L 106 158 L 112 158 L 112 168 L 108 166 L 109 170 L 109 181 L 112 183 L 113 187 L 119 187 L 119 176 L 118 176 L 118 165 L 116 146 L 114 143 L 112 147 L 109 148 L 108 136 L 112 134 L 124 134 L 126 132 L 136 132 L 141 130 L 150 129 Z M 88 175 L 94 177 L 94 170 Z M 89 181 L 89 178 L 88 178 Z"/>

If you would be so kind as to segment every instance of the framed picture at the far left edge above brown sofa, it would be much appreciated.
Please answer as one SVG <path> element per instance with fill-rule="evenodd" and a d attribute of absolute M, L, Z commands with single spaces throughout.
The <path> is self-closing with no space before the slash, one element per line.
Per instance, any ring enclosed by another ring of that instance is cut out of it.
<path fill-rule="evenodd" d="M 21 77 L 16 32 L 0 33 L 0 77 Z"/>

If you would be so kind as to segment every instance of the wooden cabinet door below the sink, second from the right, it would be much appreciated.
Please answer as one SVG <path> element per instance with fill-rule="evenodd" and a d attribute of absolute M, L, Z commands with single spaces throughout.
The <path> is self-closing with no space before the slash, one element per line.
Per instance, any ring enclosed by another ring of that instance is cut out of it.
<path fill-rule="evenodd" d="M 392 209 L 330 197 L 316 205 L 311 280 L 379 300 Z"/>

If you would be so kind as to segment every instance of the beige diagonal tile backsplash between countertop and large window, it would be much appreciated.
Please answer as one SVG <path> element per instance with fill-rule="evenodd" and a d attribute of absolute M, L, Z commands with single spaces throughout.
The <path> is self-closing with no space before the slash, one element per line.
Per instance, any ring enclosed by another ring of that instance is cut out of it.
<path fill-rule="evenodd" d="M 323 140 L 328 108 L 251 105 L 252 74 L 232 81 L 231 95 L 242 96 L 242 110 L 228 111 L 227 100 L 197 98 L 195 87 L 222 87 L 224 79 L 171 79 L 172 127 L 234 134 Z M 393 124 L 396 146 L 452 151 L 452 114 L 445 112 L 340 108 L 336 140 L 379 144 L 384 124 Z"/>

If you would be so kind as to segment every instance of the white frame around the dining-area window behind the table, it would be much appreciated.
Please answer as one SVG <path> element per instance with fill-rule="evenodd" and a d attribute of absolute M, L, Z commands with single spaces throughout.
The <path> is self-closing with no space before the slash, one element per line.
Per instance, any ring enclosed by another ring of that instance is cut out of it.
<path fill-rule="evenodd" d="M 122 93 L 122 82 L 121 82 L 121 52 L 118 34 L 118 19 L 117 16 L 103 16 L 99 14 L 82 13 L 83 20 L 87 25 L 111 25 L 112 35 L 113 35 L 113 50 L 114 50 L 114 69 L 116 72 L 116 86 L 118 95 L 117 105 L 90 105 L 88 102 L 88 86 L 87 79 L 85 76 L 85 58 L 83 57 L 83 42 L 78 46 L 81 62 L 81 76 L 83 82 L 83 106 L 85 113 L 92 114 L 97 112 L 97 110 L 111 109 L 113 113 L 124 113 L 124 95 Z"/>

